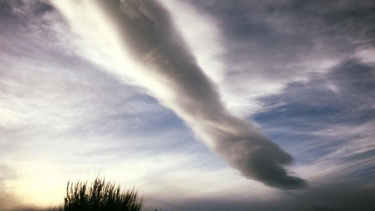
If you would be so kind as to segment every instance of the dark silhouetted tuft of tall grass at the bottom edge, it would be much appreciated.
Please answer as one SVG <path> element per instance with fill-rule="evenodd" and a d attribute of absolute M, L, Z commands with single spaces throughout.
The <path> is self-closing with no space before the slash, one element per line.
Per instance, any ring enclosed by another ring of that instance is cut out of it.
<path fill-rule="evenodd" d="M 96 177 L 91 186 L 87 186 L 87 182 L 69 181 L 66 186 L 63 210 L 141 211 L 144 202 L 145 200 L 137 195 L 134 187 L 121 190 L 119 185 Z"/>

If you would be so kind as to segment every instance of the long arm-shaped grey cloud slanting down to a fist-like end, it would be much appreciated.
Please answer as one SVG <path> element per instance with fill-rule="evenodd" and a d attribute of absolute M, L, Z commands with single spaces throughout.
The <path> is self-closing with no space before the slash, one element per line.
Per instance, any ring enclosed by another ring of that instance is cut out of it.
<path fill-rule="evenodd" d="M 120 37 L 117 45 L 144 67 L 131 70 L 142 72 L 142 77 L 136 80 L 181 117 L 229 165 L 243 176 L 270 186 L 292 189 L 305 185 L 304 180 L 288 175 L 282 167 L 293 161 L 290 154 L 224 108 L 214 85 L 196 64 L 168 12 L 156 1 L 82 2 L 81 6 L 95 4 L 100 8 L 98 12 L 113 24 L 113 33 Z M 56 0 L 55 5 L 59 4 Z M 71 4 L 78 5 L 77 1 Z"/>

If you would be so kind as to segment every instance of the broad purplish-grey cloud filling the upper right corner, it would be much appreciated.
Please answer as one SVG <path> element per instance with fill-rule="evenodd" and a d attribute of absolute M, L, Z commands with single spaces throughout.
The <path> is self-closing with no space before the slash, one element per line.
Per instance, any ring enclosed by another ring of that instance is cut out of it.
<path fill-rule="evenodd" d="M 260 80 L 297 81 L 375 43 L 374 1 L 190 2 L 223 29 L 226 81 L 232 87 L 240 81 L 249 87 Z"/>

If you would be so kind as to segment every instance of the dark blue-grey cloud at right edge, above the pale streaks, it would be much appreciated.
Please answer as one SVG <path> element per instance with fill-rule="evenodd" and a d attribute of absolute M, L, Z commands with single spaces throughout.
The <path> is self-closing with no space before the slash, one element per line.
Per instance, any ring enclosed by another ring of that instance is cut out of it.
<path fill-rule="evenodd" d="M 351 58 L 327 73 L 311 74 L 307 82 L 292 82 L 281 93 L 261 100 L 284 102 L 278 109 L 290 107 L 288 112 L 296 117 L 327 117 L 321 122 L 359 124 L 375 117 L 374 88 L 374 64 Z"/>

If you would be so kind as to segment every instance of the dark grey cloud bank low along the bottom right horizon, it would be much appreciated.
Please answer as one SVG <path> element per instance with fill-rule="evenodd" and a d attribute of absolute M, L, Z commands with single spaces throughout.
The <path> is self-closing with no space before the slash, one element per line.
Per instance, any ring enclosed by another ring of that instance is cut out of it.
<path fill-rule="evenodd" d="M 365 185 L 358 181 L 347 181 L 303 191 L 269 192 L 239 200 L 207 197 L 170 201 L 169 205 L 165 204 L 165 210 L 372 211 L 375 208 L 374 193 L 373 183 Z"/>

